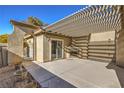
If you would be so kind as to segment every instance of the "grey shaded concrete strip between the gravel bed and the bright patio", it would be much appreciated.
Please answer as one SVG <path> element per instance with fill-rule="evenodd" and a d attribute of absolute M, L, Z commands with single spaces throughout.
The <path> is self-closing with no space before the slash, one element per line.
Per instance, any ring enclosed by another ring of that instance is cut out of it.
<path fill-rule="evenodd" d="M 76 88 L 74 85 L 33 62 L 25 62 L 23 66 L 43 88 Z"/>

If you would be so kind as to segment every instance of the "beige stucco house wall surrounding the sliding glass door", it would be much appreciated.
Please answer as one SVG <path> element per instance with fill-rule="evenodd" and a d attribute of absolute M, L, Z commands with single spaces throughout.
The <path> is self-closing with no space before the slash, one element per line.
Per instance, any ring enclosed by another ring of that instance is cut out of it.
<path fill-rule="evenodd" d="M 36 35 L 36 60 L 39 62 L 47 62 L 51 61 L 51 40 L 62 40 L 63 48 L 64 46 L 69 46 L 71 44 L 71 38 L 62 37 L 62 36 L 54 36 L 54 35 L 47 35 L 47 34 L 39 34 Z M 33 37 L 27 39 L 27 43 L 33 43 Z M 33 47 L 29 45 L 29 54 L 30 50 Z M 66 58 L 66 53 L 63 51 L 63 58 Z"/>

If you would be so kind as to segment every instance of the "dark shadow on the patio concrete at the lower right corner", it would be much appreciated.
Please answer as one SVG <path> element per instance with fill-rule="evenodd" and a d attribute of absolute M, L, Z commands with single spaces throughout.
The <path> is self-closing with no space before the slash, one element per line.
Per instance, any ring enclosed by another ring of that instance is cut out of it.
<path fill-rule="evenodd" d="M 124 88 L 124 68 L 117 66 L 114 62 L 109 63 L 106 68 L 115 70 L 122 88 Z"/>

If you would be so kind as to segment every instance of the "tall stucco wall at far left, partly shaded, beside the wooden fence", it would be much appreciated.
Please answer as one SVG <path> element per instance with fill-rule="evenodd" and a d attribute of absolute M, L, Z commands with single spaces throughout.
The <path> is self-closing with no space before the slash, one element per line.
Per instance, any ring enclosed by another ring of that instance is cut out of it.
<path fill-rule="evenodd" d="M 23 38 L 25 32 L 14 27 L 14 32 L 8 37 L 8 63 L 18 63 L 23 58 Z"/>

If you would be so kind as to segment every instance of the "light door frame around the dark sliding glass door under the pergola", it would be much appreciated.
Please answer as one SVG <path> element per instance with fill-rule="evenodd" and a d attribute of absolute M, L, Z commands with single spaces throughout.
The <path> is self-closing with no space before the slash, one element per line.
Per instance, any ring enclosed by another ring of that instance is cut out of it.
<path fill-rule="evenodd" d="M 64 58 L 64 40 L 63 39 L 56 39 L 56 38 L 50 38 L 50 42 L 49 42 L 49 59 L 52 60 L 52 54 L 51 54 L 51 47 L 52 47 L 52 40 L 55 40 L 55 41 L 61 41 L 62 42 L 62 58 Z"/>

